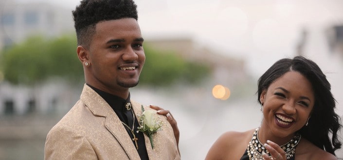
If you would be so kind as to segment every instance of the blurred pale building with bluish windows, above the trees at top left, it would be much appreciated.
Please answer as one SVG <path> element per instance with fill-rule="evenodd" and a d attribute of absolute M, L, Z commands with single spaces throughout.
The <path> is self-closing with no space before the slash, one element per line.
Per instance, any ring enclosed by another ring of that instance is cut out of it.
<path fill-rule="evenodd" d="M 56 36 L 73 32 L 72 11 L 49 3 L 0 1 L 0 49 L 30 35 Z"/>

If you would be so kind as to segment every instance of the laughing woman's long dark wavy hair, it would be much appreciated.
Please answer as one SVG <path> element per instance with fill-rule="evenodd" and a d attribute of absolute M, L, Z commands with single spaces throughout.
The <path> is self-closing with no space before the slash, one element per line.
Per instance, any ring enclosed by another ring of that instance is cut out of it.
<path fill-rule="evenodd" d="M 336 100 L 331 94 L 331 85 L 316 63 L 302 56 L 277 61 L 258 80 L 258 102 L 261 103 L 259 97 L 262 91 L 267 90 L 272 82 L 289 71 L 299 72 L 306 77 L 312 84 L 315 96 L 308 125 L 298 132 L 312 144 L 335 155 L 335 150 L 342 145 L 337 135 L 342 124 L 340 116 L 334 111 Z M 331 140 L 329 134 L 332 135 Z"/>

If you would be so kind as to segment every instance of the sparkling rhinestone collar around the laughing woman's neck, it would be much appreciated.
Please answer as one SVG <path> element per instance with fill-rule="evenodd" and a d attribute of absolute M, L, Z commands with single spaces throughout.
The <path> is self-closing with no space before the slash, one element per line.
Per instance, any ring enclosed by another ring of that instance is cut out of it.
<path fill-rule="evenodd" d="M 269 157 L 271 157 L 271 154 L 268 152 L 268 150 L 264 147 L 264 145 L 258 139 L 258 129 L 259 128 L 257 128 L 253 132 L 253 138 L 248 144 L 247 149 L 248 149 L 249 160 L 264 160 L 262 156 L 263 152 L 267 153 Z M 300 139 L 301 139 L 301 135 L 297 133 L 289 142 L 280 146 L 286 152 L 287 160 L 294 157 L 295 147 L 299 144 Z"/>

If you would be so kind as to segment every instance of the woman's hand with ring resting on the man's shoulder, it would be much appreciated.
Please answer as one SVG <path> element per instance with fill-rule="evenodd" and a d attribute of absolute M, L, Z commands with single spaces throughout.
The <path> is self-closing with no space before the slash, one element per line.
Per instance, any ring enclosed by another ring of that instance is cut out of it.
<path fill-rule="evenodd" d="M 154 106 L 154 105 L 150 105 L 149 107 L 154 109 L 154 110 L 157 110 L 158 114 L 164 115 L 167 117 L 168 122 L 170 123 L 171 127 L 173 128 L 176 144 L 178 145 L 178 150 L 179 150 L 180 131 L 178 128 L 178 123 L 174 119 L 173 115 L 168 110 L 163 110 L 161 107 Z M 179 154 L 180 154 L 180 150 L 179 150 Z"/>

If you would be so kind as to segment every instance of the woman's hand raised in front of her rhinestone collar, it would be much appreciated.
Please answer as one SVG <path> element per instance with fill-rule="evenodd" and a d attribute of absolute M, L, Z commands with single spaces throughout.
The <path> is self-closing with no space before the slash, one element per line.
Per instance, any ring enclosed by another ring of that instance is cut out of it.
<path fill-rule="evenodd" d="M 264 153 L 262 155 L 265 160 L 286 160 L 286 152 L 278 144 L 275 144 L 269 140 L 267 143 L 268 144 L 264 144 L 264 146 L 271 154 L 271 157 Z"/>

